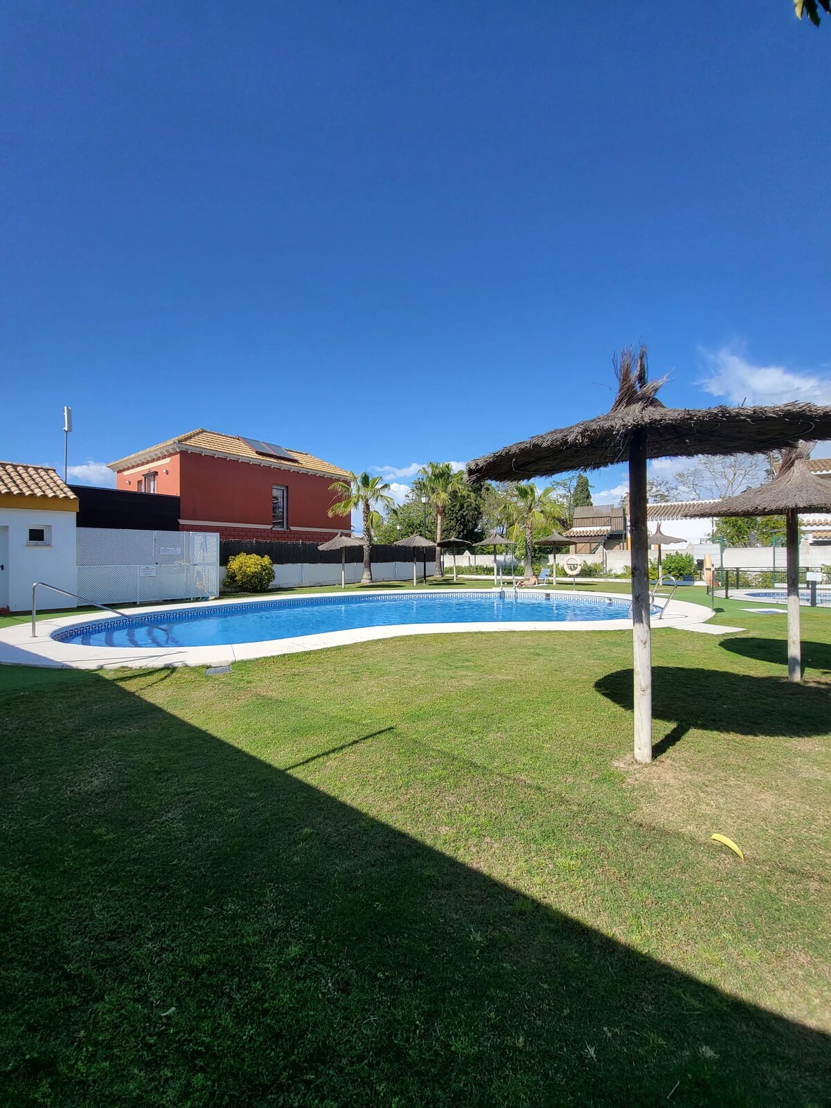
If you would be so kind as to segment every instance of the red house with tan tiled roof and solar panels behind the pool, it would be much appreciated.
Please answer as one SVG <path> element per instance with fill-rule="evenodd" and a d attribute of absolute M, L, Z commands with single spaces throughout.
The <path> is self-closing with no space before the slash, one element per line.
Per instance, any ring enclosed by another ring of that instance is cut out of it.
<path fill-rule="evenodd" d="M 351 533 L 349 516 L 328 514 L 338 499 L 329 485 L 349 473 L 301 450 L 199 429 L 110 462 L 110 469 L 121 490 L 178 496 L 182 531 L 309 542 Z"/>

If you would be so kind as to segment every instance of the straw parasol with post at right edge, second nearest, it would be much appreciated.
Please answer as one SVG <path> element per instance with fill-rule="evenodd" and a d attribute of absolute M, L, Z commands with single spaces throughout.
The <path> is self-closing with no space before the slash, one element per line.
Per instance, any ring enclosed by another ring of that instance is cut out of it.
<path fill-rule="evenodd" d="M 748 489 L 738 496 L 691 509 L 690 516 L 784 515 L 788 550 L 788 680 L 802 679 L 799 612 L 799 513 L 831 511 L 831 481 L 818 478 L 808 466 L 814 445 L 800 442 L 782 451 L 779 472 L 768 484 Z"/>

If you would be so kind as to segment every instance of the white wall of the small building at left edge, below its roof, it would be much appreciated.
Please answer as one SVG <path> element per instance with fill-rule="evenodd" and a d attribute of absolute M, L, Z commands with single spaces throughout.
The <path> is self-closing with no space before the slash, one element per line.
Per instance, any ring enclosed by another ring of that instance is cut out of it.
<path fill-rule="evenodd" d="M 11 612 L 31 612 L 32 584 L 50 585 L 76 592 L 75 512 L 49 512 L 41 509 L 0 507 L 0 527 L 9 529 L 9 552 L 4 576 L 8 581 L 8 607 Z M 29 527 L 51 527 L 49 546 L 29 546 Z M 0 603 L 2 598 L 0 598 Z M 60 593 L 38 589 L 38 606 L 71 608 L 75 602 Z"/>

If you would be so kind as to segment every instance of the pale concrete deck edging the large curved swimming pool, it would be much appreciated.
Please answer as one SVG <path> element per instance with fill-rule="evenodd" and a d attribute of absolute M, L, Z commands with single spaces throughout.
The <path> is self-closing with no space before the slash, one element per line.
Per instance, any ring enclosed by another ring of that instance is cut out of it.
<path fill-rule="evenodd" d="M 505 589 L 510 593 L 512 589 Z M 551 592 L 551 589 L 526 589 L 524 592 Z M 561 595 L 571 594 L 571 589 L 558 589 Z M 595 593 L 575 589 L 577 595 L 583 597 L 609 597 L 615 601 L 627 599 L 620 593 Z M 396 593 L 397 596 L 423 596 L 425 593 L 433 595 L 441 593 L 447 596 L 445 589 L 402 589 Z M 355 595 L 355 594 L 346 594 Z M 361 596 L 389 596 L 383 589 L 367 591 Z M 304 599 L 317 599 L 320 597 L 331 597 L 331 593 L 308 593 Z M 191 608 L 204 611 L 209 607 L 227 607 L 229 604 L 244 607 L 246 604 L 261 604 L 264 598 L 247 598 L 240 601 L 216 599 L 198 601 L 195 604 L 166 604 L 153 607 L 131 609 L 124 613 L 126 616 L 135 615 L 137 618 L 158 614 L 165 615 L 172 611 L 184 612 Z M 284 597 L 274 597 L 275 603 L 279 603 Z M 289 599 L 285 597 L 285 599 Z M 296 603 L 297 598 L 293 597 Z M 665 597 L 656 597 L 655 603 L 664 606 Z M 700 625 L 710 619 L 712 613 L 701 604 L 693 604 L 689 601 L 676 601 L 666 608 L 663 618 L 654 616 L 652 620 L 653 629 L 661 627 L 674 627 L 676 629 L 697 630 L 704 629 Z M 81 646 L 74 643 L 62 643 L 52 638 L 57 630 L 66 630 L 89 623 L 105 622 L 92 613 L 76 616 L 61 616 L 59 618 L 41 618 L 38 620 L 38 634 L 32 636 L 31 623 L 27 620 L 16 627 L 7 627 L 0 630 L 0 665 L 7 666 L 45 666 L 58 669 L 147 669 L 163 666 L 226 666 L 233 661 L 242 661 L 246 658 L 266 658 L 283 654 L 299 654 L 306 650 L 324 650 L 334 646 L 348 646 L 352 643 L 368 643 L 381 638 L 399 638 L 406 635 L 459 635 L 468 633 L 493 633 L 493 632 L 562 632 L 562 630 L 629 630 L 632 619 L 564 619 L 561 622 L 538 622 L 517 620 L 512 623 L 434 623 L 434 624 L 396 624 L 393 626 L 380 627 L 356 627 L 349 630 L 324 632 L 316 635 L 298 635 L 291 638 L 264 639 L 258 643 L 237 643 L 232 645 L 217 646 L 172 646 L 172 647 L 113 647 L 113 646 Z M 709 624 L 709 634 L 727 634 L 728 632 L 741 630 L 737 627 L 718 627 Z"/>

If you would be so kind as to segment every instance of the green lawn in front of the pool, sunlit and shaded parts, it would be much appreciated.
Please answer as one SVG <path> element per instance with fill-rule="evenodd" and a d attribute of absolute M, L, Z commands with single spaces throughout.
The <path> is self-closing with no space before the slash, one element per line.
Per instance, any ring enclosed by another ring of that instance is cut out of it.
<path fill-rule="evenodd" d="M 716 606 L 638 770 L 623 632 L 0 671 L 0 1104 L 827 1105 L 831 612 Z"/>

